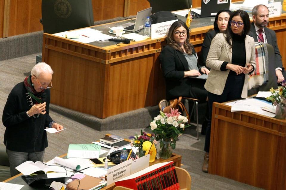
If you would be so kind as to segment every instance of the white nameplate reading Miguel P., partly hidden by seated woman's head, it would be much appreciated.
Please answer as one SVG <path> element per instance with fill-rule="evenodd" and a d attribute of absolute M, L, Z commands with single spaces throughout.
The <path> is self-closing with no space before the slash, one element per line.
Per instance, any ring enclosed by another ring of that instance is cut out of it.
<path fill-rule="evenodd" d="M 173 22 L 177 20 L 170 20 L 167 22 L 157 23 L 151 25 L 151 39 L 164 37 L 170 29 Z"/>

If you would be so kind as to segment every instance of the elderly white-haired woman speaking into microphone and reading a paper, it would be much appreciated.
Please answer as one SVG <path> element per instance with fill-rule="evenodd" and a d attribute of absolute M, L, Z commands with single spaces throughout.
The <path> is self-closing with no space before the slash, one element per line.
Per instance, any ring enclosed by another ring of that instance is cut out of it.
<path fill-rule="evenodd" d="M 31 160 L 43 161 L 48 146 L 46 127 L 57 131 L 63 126 L 49 116 L 52 68 L 44 63 L 36 64 L 31 75 L 18 83 L 10 92 L 3 110 L 2 122 L 6 127 L 4 144 L 10 162 L 11 176 L 15 167 Z"/>

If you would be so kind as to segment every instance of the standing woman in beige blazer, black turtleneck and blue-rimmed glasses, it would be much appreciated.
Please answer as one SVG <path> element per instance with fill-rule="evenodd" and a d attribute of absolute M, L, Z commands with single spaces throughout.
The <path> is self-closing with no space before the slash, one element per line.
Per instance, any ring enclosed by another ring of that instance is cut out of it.
<path fill-rule="evenodd" d="M 237 10 L 231 13 L 229 20 L 226 32 L 217 34 L 212 40 L 206 59 L 206 66 L 211 68 L 205 84 L 209 115 L 212 115 L 213 102 L 247 97 L 248 75 L 256 66 L 254 39 L 247 35 L 250 30 L 249 15 Z M 210 134 L 211 122 L 206 128 L 203 172 L 208 172 Z"/>

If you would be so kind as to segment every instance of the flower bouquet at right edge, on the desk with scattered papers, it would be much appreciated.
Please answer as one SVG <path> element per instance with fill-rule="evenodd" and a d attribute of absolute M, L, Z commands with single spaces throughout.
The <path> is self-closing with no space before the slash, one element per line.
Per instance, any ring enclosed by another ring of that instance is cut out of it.
<path fill-rule="evenodd" d="M 268 101 L 272 102 L 272 105 L 282 105 L 286 106 L 286 80 L 283 80 L 281 83 L 282 86 L 279 86 L 278 90 L 270 89 L 271 96 L 267 97 Z"/>

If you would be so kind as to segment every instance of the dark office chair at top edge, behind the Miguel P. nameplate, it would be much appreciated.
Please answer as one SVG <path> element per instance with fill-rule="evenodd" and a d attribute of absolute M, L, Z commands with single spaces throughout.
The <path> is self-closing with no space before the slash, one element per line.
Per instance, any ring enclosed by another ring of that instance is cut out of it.
<path fill-rule="evenodd" d="M 176 11 L 189 9 L 192 5 L 192 0 L 148 0 L 152 13 L 159 11 Z"/>

